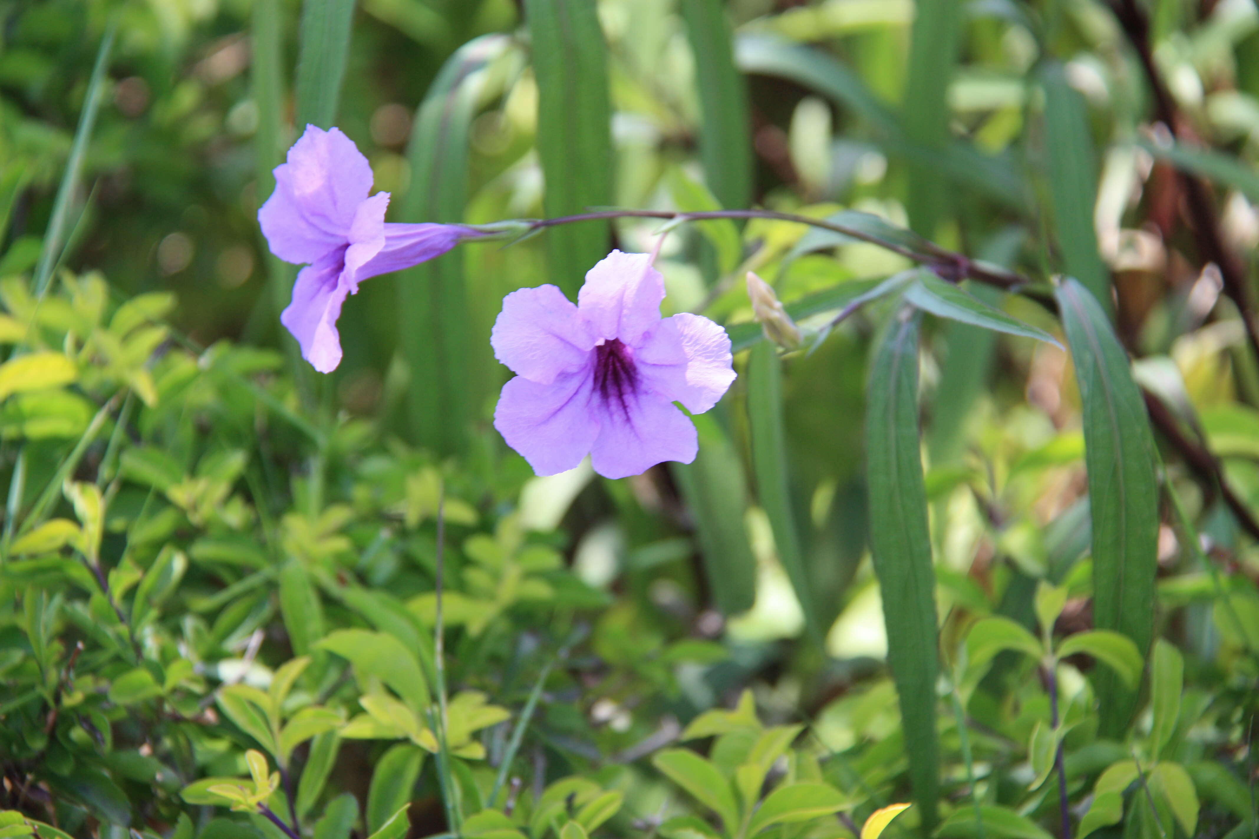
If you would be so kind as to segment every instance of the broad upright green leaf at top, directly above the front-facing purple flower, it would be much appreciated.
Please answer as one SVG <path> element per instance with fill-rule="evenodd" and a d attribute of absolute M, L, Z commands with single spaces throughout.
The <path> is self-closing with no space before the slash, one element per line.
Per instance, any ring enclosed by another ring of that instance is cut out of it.
<path fill-rule="evenodd" d="M 548 216 L 583 213 L 613 200 L 612 106 L 607 44 L 594 0 L 525 0 L 538 78 L 538 157 Z M 550 277 L 570 298 L 608 253 L 606 223 L 546 233 Z"/>

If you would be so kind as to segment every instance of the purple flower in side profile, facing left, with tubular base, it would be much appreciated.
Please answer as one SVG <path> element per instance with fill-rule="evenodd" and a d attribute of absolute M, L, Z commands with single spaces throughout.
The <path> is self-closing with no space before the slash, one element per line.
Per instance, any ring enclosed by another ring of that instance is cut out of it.
<path fill-rule="evenodd" d="M 369 277 L 439 257 L 477 235 L 454 224 L 387 224 L 389 192 L 371 191 L 371 166 L 339 128 L 306 126 L 276 167 L 276 191 L 258 210 L 271 253 L 305 264 L 279 322 L 320 372 L 341 362 L 336 318 Z"/>

